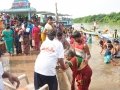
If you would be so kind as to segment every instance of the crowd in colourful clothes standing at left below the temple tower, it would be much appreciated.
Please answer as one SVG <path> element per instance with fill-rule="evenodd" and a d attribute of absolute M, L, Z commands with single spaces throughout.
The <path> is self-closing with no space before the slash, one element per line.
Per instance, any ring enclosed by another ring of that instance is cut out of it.
<path fill-rule="evenodd" d="M 5 42 L 7 52 L 13 56 L 15 54 L 29 55 L 31 49 L 39 51 L 40 43 L 42 42 L 42 25 L 34 18 L 31 21 L 27 21 L 26 19 L 15 17 L 13 21 L 14 23 L 7 18 L 2 19 L 4 29 L 1 31 L 0 39 Z"/>

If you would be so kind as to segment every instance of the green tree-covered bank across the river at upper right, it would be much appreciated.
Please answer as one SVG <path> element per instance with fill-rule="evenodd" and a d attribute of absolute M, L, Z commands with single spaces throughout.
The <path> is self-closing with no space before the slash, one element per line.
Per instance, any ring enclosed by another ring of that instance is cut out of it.
<path fill-rule="evenodd" d="M 116 23 L 120 24 L 120 12 L 119 13 L 111 13 L 111 14 L 98 14 L 98 15 L 90 15 L 81 18 L 75 18 L 74 23 L 91 23 L 93 21 L 97 21 L 100 23 Z"/>

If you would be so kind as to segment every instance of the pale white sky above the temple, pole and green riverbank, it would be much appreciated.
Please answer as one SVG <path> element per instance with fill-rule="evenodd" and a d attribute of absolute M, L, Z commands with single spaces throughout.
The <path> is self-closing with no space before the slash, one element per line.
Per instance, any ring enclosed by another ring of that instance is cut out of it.
<path fill-rule="evenodd" d="M 9 9 L 14 0 L 0 0 L 0 9 Z M 100 13 L 120 12 L 120 0 L 29 0 L 31 6 L 38 11 L 55 12 L 55 2 L 58 12 L 82 17 Z"/>

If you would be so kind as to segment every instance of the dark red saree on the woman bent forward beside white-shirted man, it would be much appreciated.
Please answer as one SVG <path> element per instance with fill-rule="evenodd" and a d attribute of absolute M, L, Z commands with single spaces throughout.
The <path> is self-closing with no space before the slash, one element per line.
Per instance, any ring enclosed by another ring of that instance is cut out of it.
<path fill-rule="evenodd" d="M 82 58 L 74 57 L 70 60 L 71 69 L 73 71 L 73 81 L 71 90 L 88 90 L 89 84 L 91 82 L 92 70 L 87 65 L 83 69 L 78 70 L 80 64 L 82 62 Z"/>

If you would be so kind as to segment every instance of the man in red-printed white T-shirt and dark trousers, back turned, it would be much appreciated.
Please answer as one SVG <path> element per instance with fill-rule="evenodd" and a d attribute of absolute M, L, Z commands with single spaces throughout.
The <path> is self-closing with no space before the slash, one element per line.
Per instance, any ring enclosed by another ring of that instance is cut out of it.
<path fill-rule="evenodd" d="M 42 43 L 40 53 L 35 62 L 34 86 L 35 90 L 45 84 L 48 84 L 49 90 L 57 90 L 56 66 L 61 65 L 63 70 L 66 69 L 64 64 L 64 49 L 60 41 L 54 39 L 56 33 L 54 30 L 47 32 L 47 38 Z"/>

